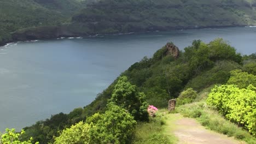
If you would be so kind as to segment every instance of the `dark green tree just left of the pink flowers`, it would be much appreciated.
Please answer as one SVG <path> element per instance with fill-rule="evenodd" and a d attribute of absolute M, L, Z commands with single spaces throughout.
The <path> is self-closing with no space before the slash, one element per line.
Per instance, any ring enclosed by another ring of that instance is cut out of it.
<path fill-rule="evenodd" d="M 126 76 L 119 78 L 110 101 L 128 110 L 136 121 L 148 121 L 146 95 L 138 92 L 135 85 L 127 81 Z"/>

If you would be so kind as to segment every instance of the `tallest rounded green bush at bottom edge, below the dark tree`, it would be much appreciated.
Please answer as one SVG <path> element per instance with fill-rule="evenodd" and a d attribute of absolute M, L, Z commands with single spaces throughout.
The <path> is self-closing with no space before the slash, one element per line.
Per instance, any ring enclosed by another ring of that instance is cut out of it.
<path fill-rule="evenodd" d="M 114 103 L 108 104 L 104 114 L 96 113 L 86 122 L 92 124 L 91 143 L 127 143 L 136 125 L 130 113 Z"/>

